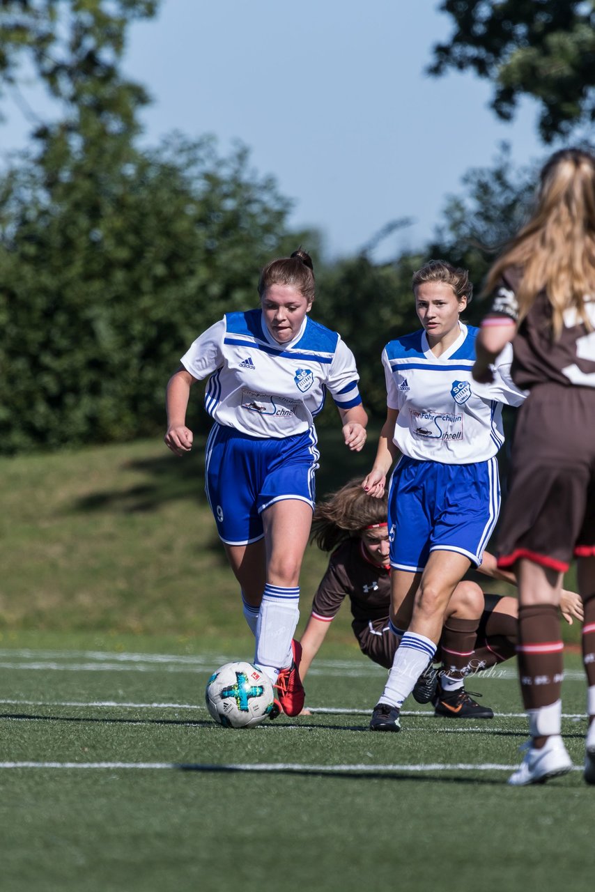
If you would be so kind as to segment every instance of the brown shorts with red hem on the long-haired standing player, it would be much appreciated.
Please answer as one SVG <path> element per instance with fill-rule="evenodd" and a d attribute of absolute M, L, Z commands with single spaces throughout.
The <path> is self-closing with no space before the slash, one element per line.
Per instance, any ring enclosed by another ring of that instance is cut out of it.
<path fill-rule="evenodd" d="M 498 565 L 595 555 L 595 388 L 540 384 L 519 411 Z"/>

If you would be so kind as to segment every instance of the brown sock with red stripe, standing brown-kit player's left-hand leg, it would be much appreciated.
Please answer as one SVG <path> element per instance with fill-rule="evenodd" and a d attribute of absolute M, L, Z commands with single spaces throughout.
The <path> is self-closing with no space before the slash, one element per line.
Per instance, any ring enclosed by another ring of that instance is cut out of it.
<path fill-rule="evenodd" d="M 560 701 L 564 676 L 563 649 L 558 607 L 553 604 L 521 604 L 518 608 L 516 653 L 533 747 L 543 746 L 550 735 L 560 733 L 561 718 L 558 718 L 556 705 Z"/>

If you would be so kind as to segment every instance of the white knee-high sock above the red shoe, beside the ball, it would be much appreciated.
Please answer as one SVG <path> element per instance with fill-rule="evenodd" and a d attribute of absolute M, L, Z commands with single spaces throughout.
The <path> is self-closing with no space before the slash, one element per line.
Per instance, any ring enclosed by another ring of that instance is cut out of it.
<path fill-rule="evenodd" d="M 300 588 L 265 586 L 256 625 L 254 662 L 269 675 L 273 684 L 280 669 L 291 665 L 292 639 L 300 619 Z"/>

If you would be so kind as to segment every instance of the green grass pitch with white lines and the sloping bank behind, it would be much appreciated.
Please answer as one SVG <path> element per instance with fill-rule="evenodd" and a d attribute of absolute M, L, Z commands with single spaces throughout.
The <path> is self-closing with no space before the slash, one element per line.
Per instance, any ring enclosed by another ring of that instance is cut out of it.
<path fill-rule="evenodd" d="M 321 495 L 372 460 L 336 431 L 321 441 Z M 564 734 L 577 770 L 539 788 L 505 784 L 525 739 L 513 665 L 468 685 L 490 722 L 413 704 L 401 734 L 368 732 L 384 672 L 359 654 L 346 610 L 308 676 L 313 714 L 227 731 L 204 686 L 251 658 L 252 640 L 200 444 L 187 461 L 159 442 L 0 459 L 0 497 L 7 892 L 591 890 L 576 654 Z M 309 549 L 300 629 L 325 566 Z M 575 625 L 565 634 L 578 640 Z"/>

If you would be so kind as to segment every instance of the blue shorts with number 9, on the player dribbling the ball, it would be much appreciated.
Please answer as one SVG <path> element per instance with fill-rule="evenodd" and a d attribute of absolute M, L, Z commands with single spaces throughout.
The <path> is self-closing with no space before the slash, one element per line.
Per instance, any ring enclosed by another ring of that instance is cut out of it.
<path fill-rule="evenodd" d="M 316 432 L 264 440 L 215 424 L 209 434 L 204 489 L 227 545 L 262 539 L 260 514 L 284 499 L 305 501 L 314 510 Z"/>

